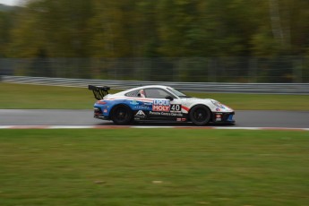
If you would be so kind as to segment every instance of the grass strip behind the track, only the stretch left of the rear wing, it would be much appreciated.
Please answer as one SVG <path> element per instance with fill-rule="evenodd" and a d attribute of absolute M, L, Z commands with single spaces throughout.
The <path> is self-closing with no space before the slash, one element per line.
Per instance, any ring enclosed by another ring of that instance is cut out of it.
<path fill-rule="evenodd" d="M 94 102 L 86 88 L 0 83 L 0 108 L 92 108 Z"/>

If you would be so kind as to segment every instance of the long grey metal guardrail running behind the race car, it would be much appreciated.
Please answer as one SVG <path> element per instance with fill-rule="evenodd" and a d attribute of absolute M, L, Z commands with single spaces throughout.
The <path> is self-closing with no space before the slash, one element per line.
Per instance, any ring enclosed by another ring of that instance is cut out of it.
<path fill-rule="evenodd" d="M 143 85 L 167 85 L 177 90 L 208 93 L 309 94 L 309 83 L 222 83 L 222 82 L 138 82 L 66 79 L 30 76 L 1 76 L 2 82 L 86 88 L 89 84 L 127 90 Z"/>

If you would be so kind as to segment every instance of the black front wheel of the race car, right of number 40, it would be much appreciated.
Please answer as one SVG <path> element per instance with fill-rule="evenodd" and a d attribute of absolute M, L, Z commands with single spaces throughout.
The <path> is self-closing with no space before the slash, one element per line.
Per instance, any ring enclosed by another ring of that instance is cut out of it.
<path fill-rule="evenodd" d="M 195 125 L 205 125 L 210 122 L 211 112 L 210 108 L 197 105 L 190 110 L 190 119 Z"/>

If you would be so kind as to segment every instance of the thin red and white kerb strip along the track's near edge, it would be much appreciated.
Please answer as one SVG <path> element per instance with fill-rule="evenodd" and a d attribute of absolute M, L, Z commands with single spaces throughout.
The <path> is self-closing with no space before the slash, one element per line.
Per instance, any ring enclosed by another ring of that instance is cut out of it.
<path fill-rule="evenodd" d="M 121 125 L 0 125 L 0 129 L 216 129 L 216 130 L 276 130 L 276 131 L 309 131 L 309 128 L 292 127 L 237 127 L 237 126 L 121 126 Z"/>

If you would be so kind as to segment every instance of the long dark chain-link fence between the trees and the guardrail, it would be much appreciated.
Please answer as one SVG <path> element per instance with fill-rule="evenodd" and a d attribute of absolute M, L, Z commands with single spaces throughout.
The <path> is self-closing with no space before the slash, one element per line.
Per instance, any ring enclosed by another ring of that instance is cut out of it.
<path fill-rule="evenodd" d="M 167 82 L 309 82 L 309 56 L 0 58 L 0 75 Z"/>

